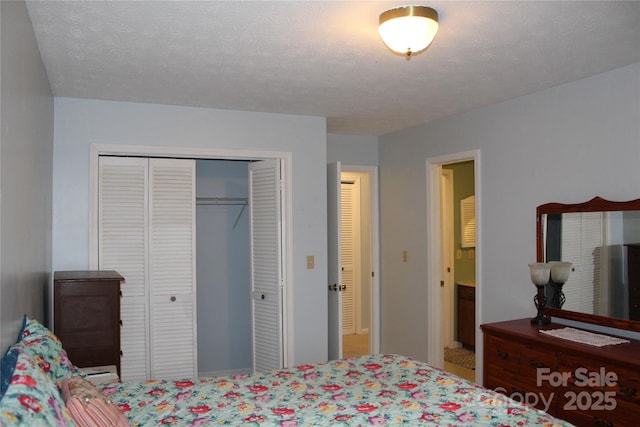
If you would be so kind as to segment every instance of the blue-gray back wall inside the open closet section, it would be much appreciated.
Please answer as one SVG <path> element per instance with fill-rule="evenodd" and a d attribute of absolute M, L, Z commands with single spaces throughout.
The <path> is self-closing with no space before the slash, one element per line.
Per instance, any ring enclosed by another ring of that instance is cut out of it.
<path fill-rule="evenodd" d="M 196 197 L 246 198 L 248 174 L 247 162 L 198 160 Z M 251 370 L 249 209 L 198 204 L 196 224 L 198 372 Z"/>

